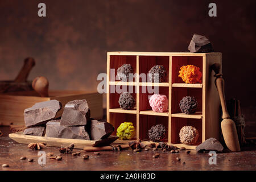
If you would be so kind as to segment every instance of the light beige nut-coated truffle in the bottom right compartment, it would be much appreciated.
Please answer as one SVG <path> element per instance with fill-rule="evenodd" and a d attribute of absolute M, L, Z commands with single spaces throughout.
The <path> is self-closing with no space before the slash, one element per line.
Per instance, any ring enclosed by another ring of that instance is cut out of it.
<path fill-rule="evenodd" d="M 188 145 L 195 144 L 199 137 L 197 129 L 193 126 L 183 126 L 180 130 L 180 142 Z"/>

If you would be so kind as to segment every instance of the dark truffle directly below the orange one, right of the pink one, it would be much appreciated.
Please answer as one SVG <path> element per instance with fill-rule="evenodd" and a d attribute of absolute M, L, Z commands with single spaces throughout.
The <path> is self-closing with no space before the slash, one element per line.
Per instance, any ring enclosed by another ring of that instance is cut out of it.
<path fill-rule="evenodd" d="M 194 114 L 196 112 L 196 107 L 198 102 L 195 97 L 186 96 L 180 101 L 180 110 L 184 114 Z"/>

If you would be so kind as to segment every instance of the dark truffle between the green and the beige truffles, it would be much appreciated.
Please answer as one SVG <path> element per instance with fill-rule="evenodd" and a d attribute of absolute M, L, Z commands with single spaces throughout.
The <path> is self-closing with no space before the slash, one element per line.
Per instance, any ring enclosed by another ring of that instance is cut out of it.
<path fill-rule="evenodd" d="M 152 126 L 148 130 L 148 138 L 153 142 L 161 142 L 166 136 L 166 127 L 162 124 Z"/>

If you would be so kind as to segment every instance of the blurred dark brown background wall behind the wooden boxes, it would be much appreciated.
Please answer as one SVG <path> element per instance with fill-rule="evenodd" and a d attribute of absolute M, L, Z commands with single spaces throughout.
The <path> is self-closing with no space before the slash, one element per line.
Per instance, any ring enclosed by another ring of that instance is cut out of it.
<path fill-rule="evenodd" d="M 46 18 L 38 16 L 40 2 Z M 210 2 L 217 17 L 208 16 Z M 246 121 L 254 121 L 255 6 L 255 0 L 1 0 L 0 80 L 14 79 L 32 56 L 30 80 L 41 75 L 50 89 L 97 91 L 107 51 L 187 51 L 196 32 L 222 52 L 226 97 L 241 100 Z"/>

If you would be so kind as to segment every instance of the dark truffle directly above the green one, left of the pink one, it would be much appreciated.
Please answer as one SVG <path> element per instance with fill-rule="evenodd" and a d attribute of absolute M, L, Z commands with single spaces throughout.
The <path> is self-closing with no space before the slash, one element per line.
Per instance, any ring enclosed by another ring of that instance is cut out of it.
<path fill-rule="evenodd" d="M 120 94 L 118 103 L 120 107 L 125 110 L 133 109 L 136 105 L 135 99 L 128 92 L 123 92 Z"/>

